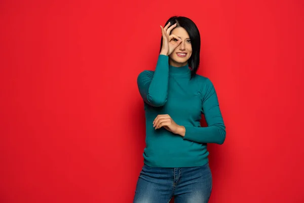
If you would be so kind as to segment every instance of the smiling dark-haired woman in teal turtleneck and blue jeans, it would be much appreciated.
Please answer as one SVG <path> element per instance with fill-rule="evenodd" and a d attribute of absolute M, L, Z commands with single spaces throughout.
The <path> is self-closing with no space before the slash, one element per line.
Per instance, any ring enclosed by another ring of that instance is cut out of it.
<path fill-rule="evenodd" d="M 207 143 L 222 144 L 225 126 L 211 81 L 196 72 L 200 33 L 186 17 L 162 27 L 155 71 L 137 79 L 144 100 L 146 147 L 134 203 L 208 202 L 212 176 Z M 201 127 L 204 114 L 208 127 Z"/>

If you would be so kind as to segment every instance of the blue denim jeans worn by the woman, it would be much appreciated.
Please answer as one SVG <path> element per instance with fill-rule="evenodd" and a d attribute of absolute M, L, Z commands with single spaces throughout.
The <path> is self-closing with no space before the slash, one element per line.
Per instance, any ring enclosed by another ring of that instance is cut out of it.
<path fill-rule="evenodd" d="M 209 163 L 198 167 L 162 168 L 143 165 L 133 203 L 204 203 L 209 201 L 212 175 Z"/>

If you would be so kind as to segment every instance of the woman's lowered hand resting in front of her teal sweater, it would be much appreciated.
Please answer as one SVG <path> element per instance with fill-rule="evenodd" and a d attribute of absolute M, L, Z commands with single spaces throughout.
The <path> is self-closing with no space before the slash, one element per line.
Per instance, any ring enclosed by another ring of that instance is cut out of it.
<path fill-rule="evenodd" d="M 155 129 L 164 127 L 170 132 L 184 136 L 184 126 L 177 125 L 168 114 L 158 115 L 153 121 L 153 127 L 155 127 Z"/>

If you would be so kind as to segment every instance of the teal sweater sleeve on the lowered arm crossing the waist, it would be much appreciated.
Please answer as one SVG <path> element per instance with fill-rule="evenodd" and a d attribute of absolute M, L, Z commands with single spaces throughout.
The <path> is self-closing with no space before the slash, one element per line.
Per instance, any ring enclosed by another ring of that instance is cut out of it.
<path fill-rule="evenodd" d="M 202 109 L 207 127 L 184 126 L 183 139 L 197 143 L 223 144 L 226 137 L 225 125 L 219 109 L 218 98 L 212 82 L 207 79 L 203 95 Z"/>

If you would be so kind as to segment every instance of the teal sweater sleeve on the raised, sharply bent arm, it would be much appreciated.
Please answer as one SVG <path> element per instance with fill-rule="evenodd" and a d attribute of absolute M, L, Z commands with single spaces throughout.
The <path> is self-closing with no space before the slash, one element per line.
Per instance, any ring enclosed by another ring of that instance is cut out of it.
<path fill-rule="evenodd" d="M 154 73 L 143 71 L 137 77 L 139 93 L 145 103 L 154 107 L 164 106 L 168 96 L 168 80 L 168 56 L 160 54 Z"/>

